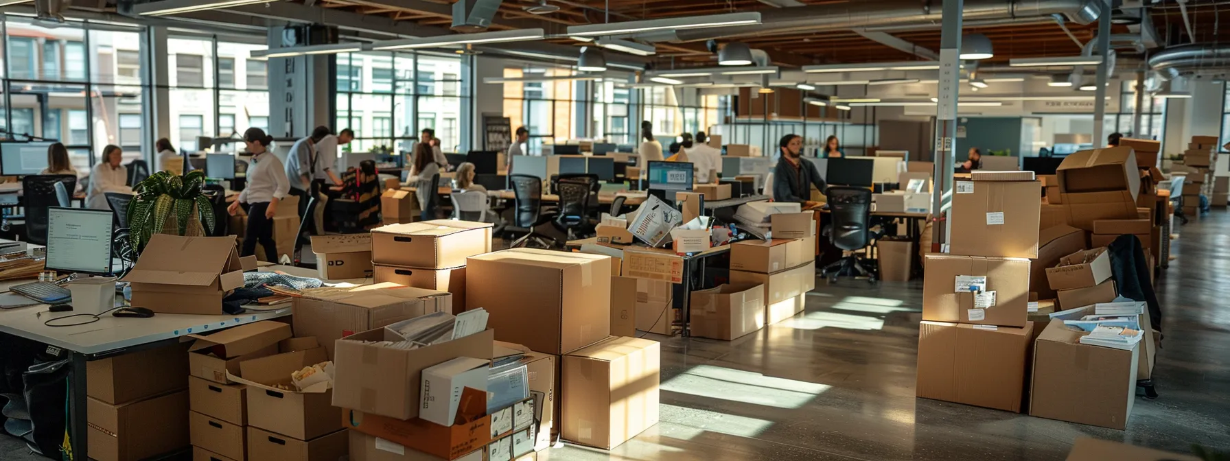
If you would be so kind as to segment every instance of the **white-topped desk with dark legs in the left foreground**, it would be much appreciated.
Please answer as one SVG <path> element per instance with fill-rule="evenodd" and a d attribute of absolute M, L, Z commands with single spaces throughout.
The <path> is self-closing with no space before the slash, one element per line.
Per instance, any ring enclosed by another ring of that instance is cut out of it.
<path fill-rule="evenodd" d="M 4 241 L 7 242 L 7 241 Z M 266 266 L 257 270 L 282 270 L 293 275 L 315 277 L 311 269 Z M 0 282 L 0 290 L 31 280 Z M 341 280 L 365 283 L 367 280 Z M 220 306 L 219 306 L 220 307 Z M 91 360 L 117 357 L 140 350 L 180 343 L 186 334 L 208 333 L 236 325 L 290 315 L 290 304 L 271 306 L 269 310 L 241 315 L 181 315 L 157 313 L 150 318 L 119 318 L 102 316 L 97 322 L 73 327 L 48 327 L 49 318 L 68 316 L 74 312 L 47 311 L 47 305 L 34 305 L 10 310 L 0 310 L 0 333 L 39 342 L 59 349 L 58 357 L 70 359 L 71 387 L 69 388 L 69 434 L 75 460 L 89 460 L 89 441 L 86 440 L 86 363 Z"/>

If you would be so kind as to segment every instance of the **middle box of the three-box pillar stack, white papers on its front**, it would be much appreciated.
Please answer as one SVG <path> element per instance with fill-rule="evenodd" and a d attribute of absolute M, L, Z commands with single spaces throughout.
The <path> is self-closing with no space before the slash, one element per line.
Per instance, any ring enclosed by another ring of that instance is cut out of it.
<path fill-rule="evenodd" d="M 922 320 L 1025 327 L 1030 259 L 932 253 L 922 279 Z"/>

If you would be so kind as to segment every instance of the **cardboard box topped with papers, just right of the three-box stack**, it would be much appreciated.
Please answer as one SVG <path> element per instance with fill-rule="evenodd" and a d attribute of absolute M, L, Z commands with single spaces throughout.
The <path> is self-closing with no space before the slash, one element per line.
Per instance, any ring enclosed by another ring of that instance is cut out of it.
<path fill-rule="evenodd" d="M 1122 430 L 1135 401 L 1140 348 L 1081 344 L 1085 334 L 1050 322 L 1038 336 L 1030 416 Z"/>

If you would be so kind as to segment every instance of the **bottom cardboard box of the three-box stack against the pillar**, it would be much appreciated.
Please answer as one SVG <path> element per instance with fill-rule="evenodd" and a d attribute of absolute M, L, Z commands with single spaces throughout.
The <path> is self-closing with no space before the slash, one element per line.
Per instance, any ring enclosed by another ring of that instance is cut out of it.
<path fill-rule="evenodd" d="M 1033 322 L 1023 328 L 919 323 L 916 395 L 1020 412 Z"/>

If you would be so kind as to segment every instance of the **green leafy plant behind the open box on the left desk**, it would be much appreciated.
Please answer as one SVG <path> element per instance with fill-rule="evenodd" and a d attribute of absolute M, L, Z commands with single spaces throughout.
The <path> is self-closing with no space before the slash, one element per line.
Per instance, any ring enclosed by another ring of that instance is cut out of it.
<path fill-rule="evenodd" d="M 214 208 L 202 192 L 204 183 L 200 170 L 184 176 L 160 171 L 133 187 L 133 200 L 128 203 L 133 248 L 144 248 L 154 234 L 203 236 L 207 229 L 212 231 Z"/>

